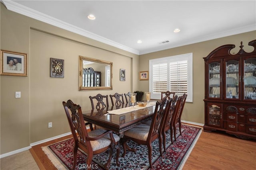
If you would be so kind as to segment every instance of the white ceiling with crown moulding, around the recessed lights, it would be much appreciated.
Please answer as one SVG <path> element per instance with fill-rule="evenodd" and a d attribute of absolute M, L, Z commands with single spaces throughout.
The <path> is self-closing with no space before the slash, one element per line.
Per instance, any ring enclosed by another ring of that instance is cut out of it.
<path fill-rule="evenodd" d="M 256 30 L 256 0 L 2 2 L 14 12 L 140 55 Z M 89 14 L 96 20 L 88 20 Z M 181 31 L 174 33 L 176 28 Z"/>

